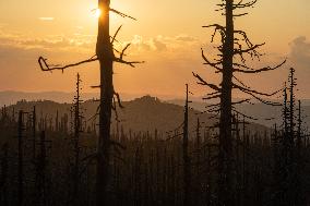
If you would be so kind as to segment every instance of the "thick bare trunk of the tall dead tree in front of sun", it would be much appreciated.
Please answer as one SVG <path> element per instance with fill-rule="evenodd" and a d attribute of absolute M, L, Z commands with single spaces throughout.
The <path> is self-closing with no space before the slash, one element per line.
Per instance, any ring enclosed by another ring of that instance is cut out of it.
<path fill-rule="evenodd" d="M 97 206 L 109 205 L 108 183 L 110 179 L 110 120 L 114 97 L 114 51 L 109 35 L 109 0 L 98 0 L 102 15 L 98 21 L 96 54 L 100 64 L 100 112 L 97 152 Z"/>

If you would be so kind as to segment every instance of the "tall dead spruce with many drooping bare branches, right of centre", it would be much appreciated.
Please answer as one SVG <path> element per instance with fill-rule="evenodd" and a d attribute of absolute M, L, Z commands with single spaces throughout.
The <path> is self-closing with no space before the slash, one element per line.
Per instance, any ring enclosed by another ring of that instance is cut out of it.
<path fill-rule="evenodd" d="M 213 93 L 208 94 L 205 99 L 219 98 L 219 104 L 213 105 L 210 111 L 216 111 L 219 113 L 219 154 L 218 154 L 218 196 L 219 205 L 231 205 L 234 203 L 234 170 L 233 170 L 233 135 L 231 135 L 231 113 L 235 110 L 234 106 L 250 99 L 246 99 L 239 102 L 231 101 L 233 89 L 242 92 L 249 95 L 251 98 L 260 100 L 267 105 L 277 105 L 264 100 L 264 97 L 271 97 L 277 94 L 279 90 L 267 94 L 258 92 L 247 86 L 237 76 L 238 74 L 259 74 L 261 72 L 272 71 L 281 68 L 286 61 L 283 61 L 278 65 L 265 66 L 261 69 L 253 69 L 247 64 L 247 58 L 258 59 L 262 56 L 258 49 L 264 44 L 252 44 L 248 38 L 246 32 L 235 29 L 235 19 L 245 16 L 248 13 L 238 13 L 240 9 L 252 8 L 257 3 L 257 0 L 222 0 L 217 5 L 217 11 L 223 12 L 226 17 L 226 25 L 212 24 L 203 26 L 206 28 L 215 28 L 212 35 L 212 43 L 215 36 L 219 34 L 220 44 L 217 48 L 219 51 L 218 58 L 210 60 L 202 49 L 202 58 L 204 64 L 215 69 L 215 73 L 222 75 L 222 83 L 219 85 L 212 84 L 205 81 L 199 74 L 193 73 L 198 81 L 198 84 L 210 87 Z"/>

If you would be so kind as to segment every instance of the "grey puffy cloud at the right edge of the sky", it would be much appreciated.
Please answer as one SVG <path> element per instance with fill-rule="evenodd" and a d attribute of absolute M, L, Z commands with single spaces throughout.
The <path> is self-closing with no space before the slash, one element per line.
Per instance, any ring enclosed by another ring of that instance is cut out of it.
<path fill-rule="evenodd" d="M 294 64 L 301 68 L 310 66 L 310 41 L 306 36 L 295 38 L 290 44 L 289 58 Z"/>

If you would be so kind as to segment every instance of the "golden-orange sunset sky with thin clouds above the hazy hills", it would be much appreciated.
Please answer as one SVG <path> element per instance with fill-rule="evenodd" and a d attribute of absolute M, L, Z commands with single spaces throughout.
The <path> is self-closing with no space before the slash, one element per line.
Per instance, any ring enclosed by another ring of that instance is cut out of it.
<path fill-rule="evenodd" d="M 111 34 L 123 25 L 118 46 L 132 47 L 128 60 L 143 60 L 136 68 L 116 64 L 115 87 L 120 93 L 180 97 L 184 84 L 195 96 L 208 90 L 196 85 L 192 72 L 208 82 L 219 76 L 203 65 L 201 48 L 214 57 L 217 43 L 211 43 L 212 29 L 203 25 L 223 23 L 215 12 L 219 0 L 111 0 L 111 8 L 138 19 L 122 19 L 111 13 Z M 71 63 L 95 53 L 97 16 L 96 0 L 0 0 L 0 90 L 74 90 L 76 73 L 84 92 L 98 85 L 98 63 L 61 72 L 41 72 L 37 59 L 50 63 Z M 236 27 L 245 29 L 253 43 L 266 43 L 261 61 L 254 68 L 275 65 L 287 59 L 278 71 L 263 75 L 239 76 L 262 92 L 278 89 L 294 66 L 298 78 L 298 96 L 310 98 L 310 1 L 259 0 L 247 9 L 249 15 L 238 17 Z M 242 96 L 236 94 L 236 96 Z"/>

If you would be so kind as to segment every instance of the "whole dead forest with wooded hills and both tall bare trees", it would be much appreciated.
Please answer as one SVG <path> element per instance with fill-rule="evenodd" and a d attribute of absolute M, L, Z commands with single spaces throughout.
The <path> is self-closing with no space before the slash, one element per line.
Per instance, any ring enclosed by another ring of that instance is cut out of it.
<path fill-rule="evenodd" d="M 131 44 L 115 46 L 122 26 L 110 34 L 110 13 L 136 20 L 98 0 L 95 56 L 53 64 L 43 53 L 37 70 L 67 72 L 98 62 L 100 82 L 93 88 L 99 98 L 82 98 L 76 72 L 72 102 L 21 99 L 1 108 L 0 205 L 310 205 L 310 135 L 297 95 L 298 69 L 286 59 L 257 68 L 251 61 L 264 56 L 265 44 L 236 28 L 257 3 L 220 0 L 214 4 L 224 24 L 202 25 L 214 31 L 206 38 L 217 43 L 217 56 L 203 48 L 196 54 L 220 83 L 189 68 L 193 82 L 212 90 L 200 110 L 187 83 L 179 104 L 151 96 L 122 101 L 115 64 L 135 68 L 144 61 L 127 60 Z M 262 92 L 242 81 L 275 70 L 287 73 L 279 89 Z M 235 90 L 246 98 L 236 100 Z M 258 104 L 279 111 L 276 123 L 257 123 L 242 111 Z"/>

